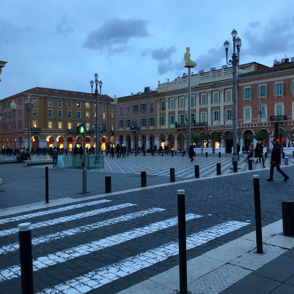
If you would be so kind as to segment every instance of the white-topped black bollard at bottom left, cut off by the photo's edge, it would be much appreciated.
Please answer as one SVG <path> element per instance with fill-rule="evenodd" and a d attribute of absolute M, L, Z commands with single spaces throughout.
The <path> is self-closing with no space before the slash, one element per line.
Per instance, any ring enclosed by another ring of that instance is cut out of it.
<path fill-rule="evenodd" d="M 20 223 L 18 228 L 21 293 L 34 294 L 31 223 Z"/>

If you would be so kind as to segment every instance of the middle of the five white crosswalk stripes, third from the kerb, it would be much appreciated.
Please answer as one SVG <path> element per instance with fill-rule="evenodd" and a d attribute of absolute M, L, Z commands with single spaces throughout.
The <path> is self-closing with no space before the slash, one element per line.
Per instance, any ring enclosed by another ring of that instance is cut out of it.
<path fill-rule="evenodd" d="M 128 221 L 131 220 L 133 218 L 139 218 L 142 216 L 146 216 L 148 214 L 151 213 L 156 213 L 159 211 L 164 211 L 165 209 L 163 208 L 149 208 L 147 210 L 142 210 L 142 211 L 137 211 L 134 213 L 128 213 L 126 215 L 122 215 L 122 216 L 118 216 L 116 218 L 110 218 L 107 220 L 103 220 L 97 223 L 91 223 L 88 225 L 82 225 L 78 228 L 73 228 L 73 229 L 68 229 L 68 230 L 63 230 L 61 232 L 56 232 L 56 233 L 52 233 L 49 235 L 45 235 L 45 236 L 41 236 L 38 238 L 33 238 L 32 239 L 32 245 L 38 245 L 41 243 L 47 243 L 50 242 L 52 240 L 59 240 L 62 238 L 66 238 L 69 236 L 73 236 L 76 235 L 78 233 L 82 233 L 82 232 L 87 232 L 87 231 L 92 231 L 92 230 L 96 230 L 98 228 L 104 227 L 106 225 L 114 225 L 116 223 L 120 223 L 123 221 Z M 13 252 L 19 249 L 19 243 L 12 243 L 9 245 L 4 245 L 0 248 L 0 254 L 6 254 L 9 252 Z"/>

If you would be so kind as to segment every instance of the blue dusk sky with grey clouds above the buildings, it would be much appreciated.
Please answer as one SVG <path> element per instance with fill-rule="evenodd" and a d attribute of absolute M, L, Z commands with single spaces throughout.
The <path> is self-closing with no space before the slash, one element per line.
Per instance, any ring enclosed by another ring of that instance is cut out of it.
<path fill-rule="evenodd" d="M 37 86 L 90 92 L 96 72 L 111 97 L 155 90 L 188 72 L 186 46 L 195 73 L 226 64 L 233 29 L 240 64 L 294 56 L 290 0 L 1 0 L 0 99 Z"/>

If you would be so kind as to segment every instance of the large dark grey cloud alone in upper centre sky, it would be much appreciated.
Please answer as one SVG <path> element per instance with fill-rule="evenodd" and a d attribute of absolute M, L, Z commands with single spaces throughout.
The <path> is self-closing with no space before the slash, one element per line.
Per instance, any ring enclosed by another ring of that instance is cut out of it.
<path fill-rule="evenodd" d="M 121 52 L 131 38 L 146 38 L 149 36 L 147 30 L 147 21 L 143 19 L 111 19 L 102 24 L 102 26 L 91 31 L 84 47 L 89 49 L 108 48 L 110 52 Z"/>

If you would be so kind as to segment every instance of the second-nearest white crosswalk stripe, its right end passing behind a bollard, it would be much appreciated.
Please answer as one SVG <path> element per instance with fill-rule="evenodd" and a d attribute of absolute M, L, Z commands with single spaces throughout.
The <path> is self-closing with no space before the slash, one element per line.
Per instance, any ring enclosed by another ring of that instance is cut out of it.
<path fill-rule="evenodd" d="M 186 214 L 186 221 L 200 218 L 202 216 L 195 214 Z M 147 234 L 151 234 L 157 232 L 159 230 L 163 230 L 165 228 L 174 226 L 178 224 L 178 218 L 170 218 L 168 220 L 159 221 L 156 223 L 152 223 L 150 225 L 146 225 L 141 228 L 136 228 L 133 230 L 129 230 L 124 233 L 112 235 L 107 238 L 103 238 L 97 241 L 93 241 L 91 243 L 86 243 L 83 245 L 79 245 L 76 247 L 72 247 L 69 249 L 65 249 L 54 254 L 49 254 L 47 256 L 41 256 L 33 261 L 33 270 L 37 271 L 41 268 L 46 268 L 48 266 L 52 266 L 57 263 L 63 263 L 65 261 L 78 258 L 83 255 L 87 255 L 103 248 L 108 248 Z M 9 268 L 5 268 L 0 271 L 0 282 L 4 280 L 11 280 L 17 276 L 20 276 L 21 268 L 19 265 L 13 265 Z"/>

